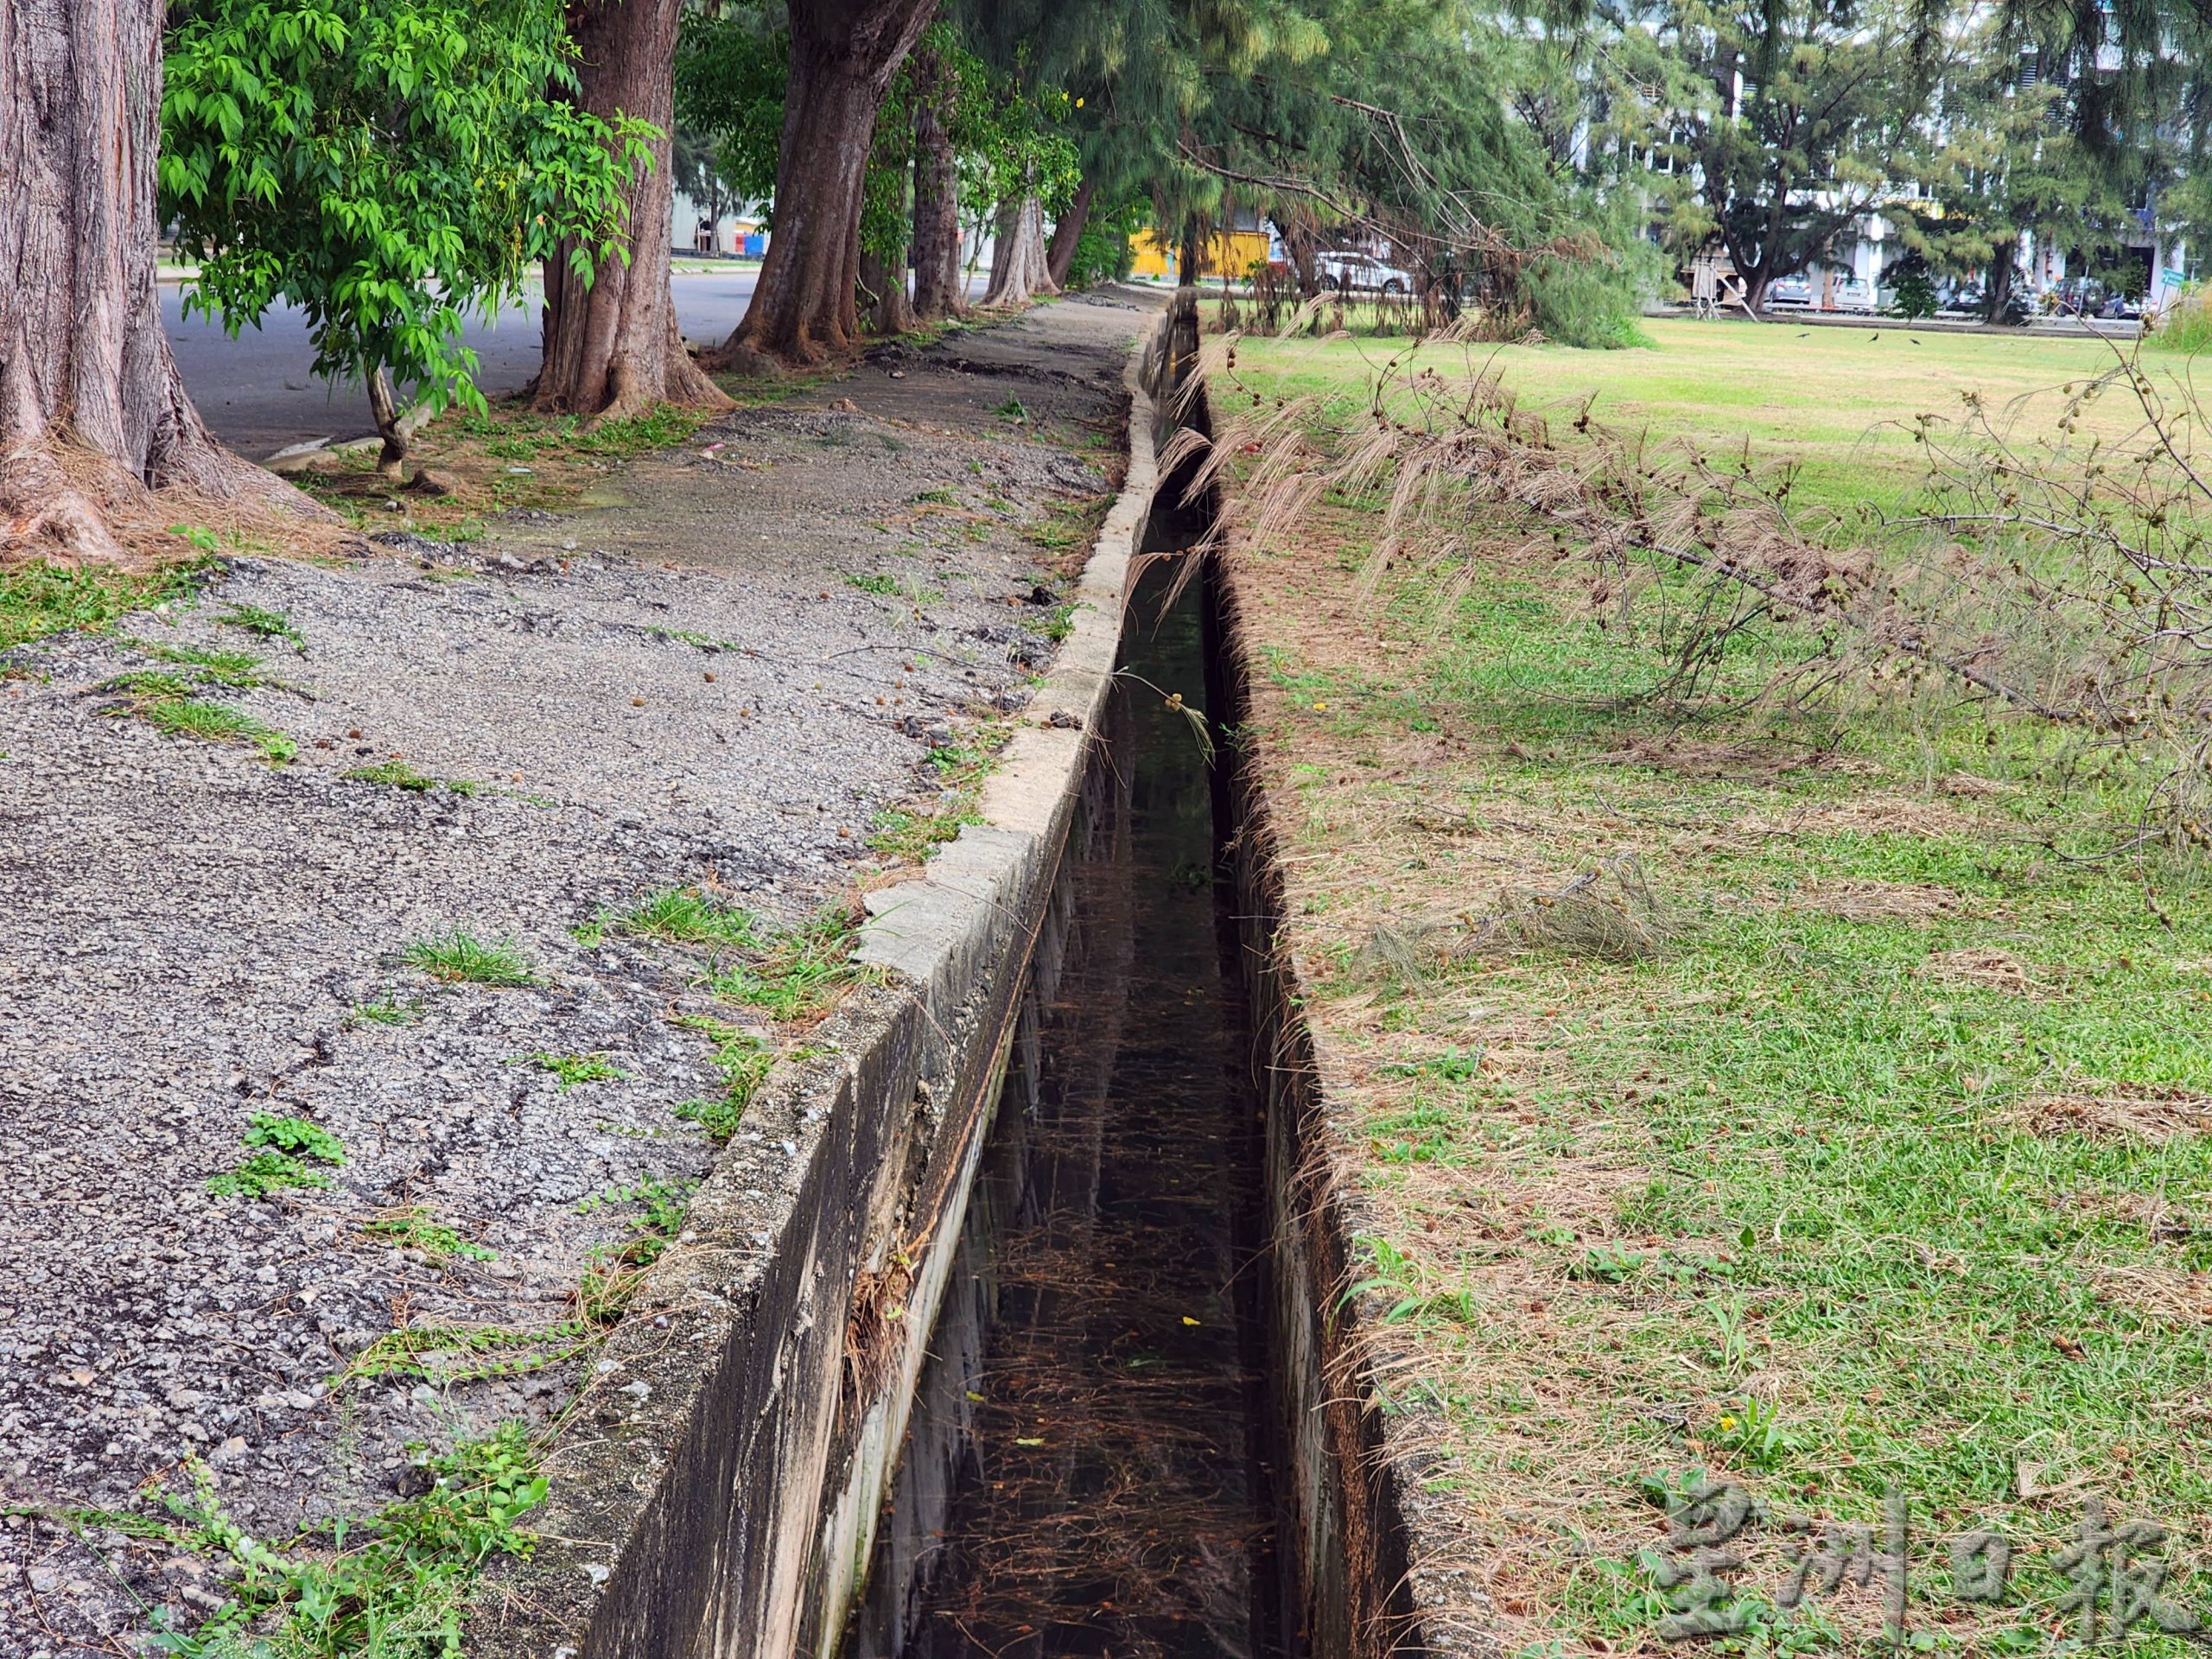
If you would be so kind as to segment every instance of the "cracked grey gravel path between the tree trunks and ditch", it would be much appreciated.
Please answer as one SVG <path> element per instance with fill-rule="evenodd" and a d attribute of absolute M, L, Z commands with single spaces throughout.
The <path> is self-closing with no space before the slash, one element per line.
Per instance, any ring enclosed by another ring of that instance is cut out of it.
<path fill-rule="evenodd" d="M 719 1082 L 672 1015 L 759 1015 L 588 922 L 688 885 L 796 922 L 849 889 L 933 743 L 1020 706 L 1064 557 L 1035 531 L 1115 482 L 1141 321 L 1071 301 L 887 349 L 637 462 L 628 504 L 465 551 L 237 562 L 126 637 L 13 655 L 0 1655 L 137 1652 L 155 1610 L 221 1601 L 206 1557 L 82 1513 L 159 1515 L 188 1455 L 285 1537 L 409 1491 L 414 1442 L 560 1407 L 575 1360 L 334 1378 L 398 1327 L 560 1329 L 588 1252 L 635 1237 L 624 1194 L 708 1170 L 672 1108 Z M 301 646 L 241 626 L 274 617 Z M 259 655 L 281 684 L 201 697 L 296 757 L 126 717 L 117 675 L 175 670 L 144 646 Z M 451 929 L 509 942 L 531 982 L 403 964 Z M 257 1115 L 334 1135 L 343 1166 L 307 1155 L 330 1186 L 210 1192 Z M 409 1212 L 491 1254 L 365 1230 Z"/>

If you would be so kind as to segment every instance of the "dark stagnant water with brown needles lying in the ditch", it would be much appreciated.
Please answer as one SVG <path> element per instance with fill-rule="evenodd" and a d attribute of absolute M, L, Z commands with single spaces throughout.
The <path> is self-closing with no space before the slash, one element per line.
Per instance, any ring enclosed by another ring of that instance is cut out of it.
<path fill-rule="evenodd" d="M 1168 701 L 1206 701 L 1203 584 L 1161 613 L 1166 586 L 1155 566 L 1130 615 L 1064 956 L 982 1175 L 995 1318 L 907 1659 L 1281 1652 L 1263 1126 L 1214 776 Z"/>

